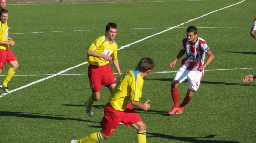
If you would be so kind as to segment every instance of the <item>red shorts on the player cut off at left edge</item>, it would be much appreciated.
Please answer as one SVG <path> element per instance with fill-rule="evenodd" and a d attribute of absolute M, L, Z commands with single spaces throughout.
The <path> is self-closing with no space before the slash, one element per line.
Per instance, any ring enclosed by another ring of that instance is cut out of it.
<path fill-rule="evenodd" d="M 5 64 L 8 64 L 9 62 L 16 60 L 16 57 L 14 56 L 10 49 L 0 49 L 0 69 L 3 69 Z"/>

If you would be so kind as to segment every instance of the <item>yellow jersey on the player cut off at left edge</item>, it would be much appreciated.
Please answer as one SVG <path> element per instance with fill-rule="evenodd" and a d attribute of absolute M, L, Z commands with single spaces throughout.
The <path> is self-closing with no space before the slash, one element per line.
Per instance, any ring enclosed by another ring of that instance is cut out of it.
<path fill-rule="evenodd" d="M 1 29 L 0 29 L 0 41 L 8 41 L 8 35 L 9 35 L 9 29 L 7 22 L 4 24 L 1 21 Z M 9 45 L 0 45 L 0 49 L 7 50 L 9 48 Z"/>

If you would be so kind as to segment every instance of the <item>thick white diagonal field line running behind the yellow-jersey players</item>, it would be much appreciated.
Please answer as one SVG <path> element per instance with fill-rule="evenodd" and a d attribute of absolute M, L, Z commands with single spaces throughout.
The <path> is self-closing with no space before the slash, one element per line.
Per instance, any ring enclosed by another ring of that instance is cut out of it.
<path fill-rule="evenodd" d="M 184 24 L 186 24 L 186 23 L 189 23 L 189 22 L 191 22 L 191 21 L 194 21 L 194 20 L 197 20 L 197 19 L 199 19 L 199 18 L 205 17 L 205 16 L 207 16 L 207 15 L 209 15 L 209 14 L 212 14 L 212 13 L 215 13 L 215 12 L 217 12 L 217 11 L 220 11 L 220 10 L 229 8 L 229 7 L 231 7 L 231 6 L 240 4 L 240 3 L 244 2 L 244 1 L 245 1 L 245 0 L 240 1 L 240 2 L 238 2 L 238 3 L 236 3 L 236 4 L 232 4 L 232 5 L 229 5 L 229 6 L 227 6 L 227 7 L 224 7 L 224 8 L 215 10 L 215 11 L 212 11 L 212 12 L 210 12 L 210 13 L 204 14 L 204 15 L 202 15 L 202 16 L 200 16 L 200 17 L 197 17 L 197 18 L 188 20 L 187 22 L 181 23 L 181 24 L 179 24 L 179 25 L 177 25 L 177 26 L 171 27 L 171 28 L 169 28 L 169 29 L 167 29 L 167 30 L 164 30 L 164 31 L 162 31 L 162 32 L 153 34 L 153 35 L 151 35 L 151 36 L 147 36 L 147 37 L 145 37 L 145 38 L 143 38 L 143 39 L 141 39 L 141 40 L 138 40 L 138 41 L 135 41 L 135 42 L 133 42 L 133 43 L 131 43 L 131 44 L 127 44 L 127 45 L 125 45 L 125 46 L 122 46 L 122 47 L 120 47 L 118 50 L 122 50 L 122 49 L 124 49 L 125 47 L 129 47 L 129 46 L 131 46 L 131 45 L 133 45 L 133 44 L 139 43 L 139 42 L 144 41 L 144 40 L 146 40 L 146 39 L 148 39 L 148 38 L 151 38 L 151 37 L 153 37 L 153 36 L 162 34 L 162 33 L 166 32 L 166 31 L 172 30 L 172 29 L 174 29 L 174 28 L 176 28 L 176 27 L 178 27 L 178 26 L 182 26 L 182 25 L 184 25 Z M 31 85 L 33 85 L 33 84 L 36 84 L 36 83 L 39 83 L 39 82 L 41 82 L 41 81 L 44 81 L 44 80 L 50 79 L 50 78 L 52 78 L 52 77 L 58 76 L 58 75 L 60 75 L 60 74 L 62 74 L 62 73 L 65 73 L 66 71 L 69 71 L 69 70 L 71 70 L 71 69 L 74 69 L 74 68 L 76 68 L 76 67 L 79 67 L 79 66 L 84 65 L 84 64 L 87 64 L 87 63 L 88 63 L 88 62 L 84 62 L 84 63 L 78 64 L 78 65 L 76 65 L 76 66 L 70 67 L 70 68 L 68 68 L 68 69 L 66 69 L 66 70 L 60 71 L 60 72 L 57 73 L 57 74 L 51 75 L 51 76 L 46 77 L 46 78 L 42 78 L 42 79 L 40 79 L 40 80 L 34 81 L 34 82 L 32 82 L 32 83 L 29 83 L 29 84 L 24 85 L 24 86 L 22 86 L 22 87 L 19 87 L 19 88 L 17 88 L 17 89 L 11 90 L 11 91 L 9 91 L 9 93 L 18 91 L 18 90 L 20 90 L 20 89 L 26 88 L 26 87 L 31 86 Z M 6 95 L 7 95 L 7 93 L 1 94 L 1 95 L 0 95 L 0 98 L 3 97 L 3 96 L 6 96 Z"/>

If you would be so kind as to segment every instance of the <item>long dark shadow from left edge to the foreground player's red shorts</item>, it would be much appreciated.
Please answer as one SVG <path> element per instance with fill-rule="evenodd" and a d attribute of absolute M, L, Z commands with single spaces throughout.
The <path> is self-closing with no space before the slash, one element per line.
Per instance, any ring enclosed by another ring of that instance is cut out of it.
<path fill-rule="evenodd" d="M 83 122 L 93 122 L 89 120 L 83 120 L 80 118 L 67 118 L 62 115 L 52 115 L 52 114 L 40 114 L 40 113 L 25 113 L 25 112 L 8 112 L 8 111 L 0 111 L 0 116 L 14 116 L 14 117 L 25 117 L 25 118 L 42 118 L 42 119 L 53 119 L 53 120 L 76 120 Z"/>

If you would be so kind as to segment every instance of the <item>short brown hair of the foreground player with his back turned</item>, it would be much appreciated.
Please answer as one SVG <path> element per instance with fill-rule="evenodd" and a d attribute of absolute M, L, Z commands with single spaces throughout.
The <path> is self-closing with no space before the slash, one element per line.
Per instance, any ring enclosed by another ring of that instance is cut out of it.
<path fill-rule="evenodd" d="M 155 67 L 155 62 L 152 58 L 142 58 L 136 67 L 136 70 L 141 72 L 146 72 L 147 70 L 153 69 Z"/>

